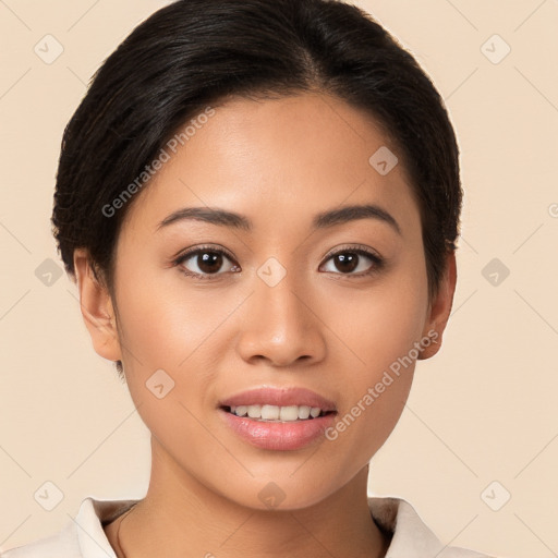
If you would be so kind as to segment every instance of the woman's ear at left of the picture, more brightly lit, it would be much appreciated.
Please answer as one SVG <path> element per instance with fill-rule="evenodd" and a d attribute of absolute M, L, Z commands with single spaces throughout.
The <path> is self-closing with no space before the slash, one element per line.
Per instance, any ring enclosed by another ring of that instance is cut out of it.
<path fill-rule="evenodd" d="M 122 353 L 116 314 L 110 293 L 95 276 L 85 248 L 74 250 L 74 268 L 82 315 L 93 341 L 93 348 L 109 361 L 121 361 Z"/>

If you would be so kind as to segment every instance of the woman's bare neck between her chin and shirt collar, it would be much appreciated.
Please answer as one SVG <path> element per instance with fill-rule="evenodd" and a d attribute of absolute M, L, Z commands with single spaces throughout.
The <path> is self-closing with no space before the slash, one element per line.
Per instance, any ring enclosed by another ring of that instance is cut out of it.
<path fill-rule="evenodd" d="M 295 510 L 253 509 L 189 475 L 151 439 L 147 495 L 107 529 L 119 558 L 151 556 L 381 558 L 388 541 L 371 517 L 367 466 L 345 486 Z M 116 533 L 120 526 L 120 545 Z"/>

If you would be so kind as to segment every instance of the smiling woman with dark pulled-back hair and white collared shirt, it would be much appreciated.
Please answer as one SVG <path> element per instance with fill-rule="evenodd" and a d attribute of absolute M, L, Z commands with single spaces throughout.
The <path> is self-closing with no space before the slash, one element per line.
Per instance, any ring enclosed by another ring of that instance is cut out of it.
<path fill-rule="evenodd" d="M 364 12 L 156 12 L 70 121 L 52 217 L 149 487 L 3 556 L 482 556 L 366 494 L 440 348 L 461 197 L 439 95 Z"/>

